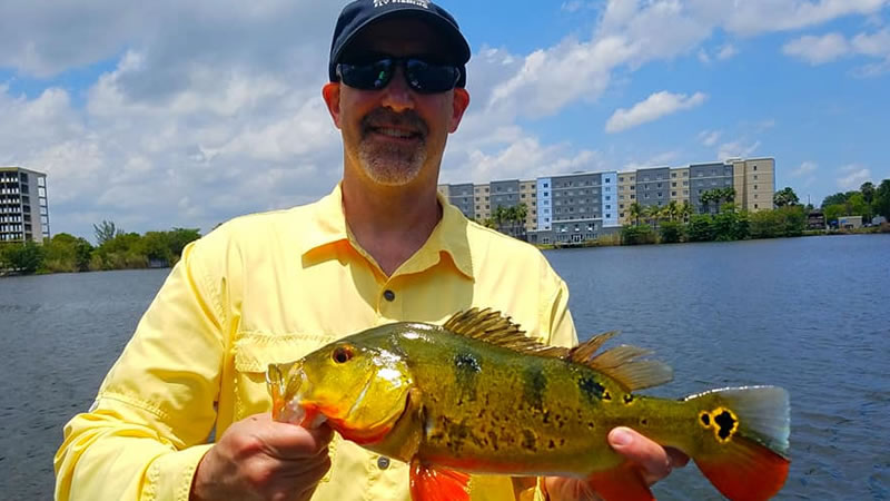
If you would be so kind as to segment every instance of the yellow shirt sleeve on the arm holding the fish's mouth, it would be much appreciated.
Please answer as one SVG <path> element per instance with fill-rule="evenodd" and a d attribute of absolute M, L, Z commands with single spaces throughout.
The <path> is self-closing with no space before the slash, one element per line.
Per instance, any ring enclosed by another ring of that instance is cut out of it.
<path fill-rule="evenodd" d="M 57 500 L 188 500 L 226 350 L 221 281 L 199 258 L 207 245 L 186 247 L 90 411 L 65 426 Z"/>

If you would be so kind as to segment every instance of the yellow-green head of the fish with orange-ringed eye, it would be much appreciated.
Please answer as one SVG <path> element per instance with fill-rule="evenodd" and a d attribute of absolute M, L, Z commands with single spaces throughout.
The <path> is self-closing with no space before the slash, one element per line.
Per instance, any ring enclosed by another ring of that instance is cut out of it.
<path fill-rule="evenodd" d="M 271 364 L 273 418 L 305 428 L 327 422 L 345 439 L 373 443 L 405 411 L 412 385 L 404 357 L 342 340 L 289 364 Z"/>

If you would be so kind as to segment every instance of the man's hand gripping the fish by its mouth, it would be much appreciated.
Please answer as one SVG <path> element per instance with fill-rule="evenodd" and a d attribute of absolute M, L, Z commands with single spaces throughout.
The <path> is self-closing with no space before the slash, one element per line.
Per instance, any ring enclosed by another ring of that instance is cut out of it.
<path fill-rule="evenodd" d="M 333 432 L 306 430 L 256 414 L 233 424 L 204 455 L 190 501 L 308 500 L 330 468 Z"/>

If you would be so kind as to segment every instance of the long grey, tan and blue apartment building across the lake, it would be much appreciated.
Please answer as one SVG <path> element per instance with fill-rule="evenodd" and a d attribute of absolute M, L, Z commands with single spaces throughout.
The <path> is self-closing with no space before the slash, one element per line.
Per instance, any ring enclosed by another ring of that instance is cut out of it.
<path fill-rule="evenodd" d="M 574 243 L 635 223 L 631 218 L 633 204 L 646 208 L 664 207 L 671 202 L 681 206 L 689 203 L 696 213 L 714 213 L 719 203 L 729 202 L 704 202 L 703 195 L 716 188 L 734 188 L 732 202 L 742 209 L 771 209 L 775 160 L 733 159 L 676 168 L 575 173 L 535 180 L 508 179 L 438 188 L 468 218 L 479 223 L 490 219 L 497 206 L 507 208 L 525 203 L 530 242 Z M 475 205 L 467 204 L 469 193 L 475 196 Z"/>

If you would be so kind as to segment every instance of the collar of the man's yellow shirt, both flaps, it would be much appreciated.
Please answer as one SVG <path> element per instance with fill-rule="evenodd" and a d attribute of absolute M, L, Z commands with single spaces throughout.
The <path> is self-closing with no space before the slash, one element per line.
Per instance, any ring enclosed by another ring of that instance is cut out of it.
<path fill-rule="evenodd" d="M 409 266 L 405 273 L 419 272 L 422 269 L 414 268 L 426 268 L 436 264 L 438 257 L 444 253 L 451 258 L 461 274 L 473 279 L 473 261 L 467 239 L 467 225 L 469 222 L 442 194 L 436 193 L 436 197 L 442 206 L 442 219 L 433 229 L 424 246 L 408 259 L 406 265 Z M 339 183 L 329 195 L 315 204 L 312 217 L 314 217 L 315 224 L 310 226 L 312 229 L 309 229 L 308 235 L 303 238 L 303 255 L 344 240 L 349 242 L 354 247 L 358 247 L 358 243 L 352 240 L 346 227 L 346 215 L 343 212 L 343 190 Z M 429 262 L 428 257 L 432 256 L 437 257 L 435 259 L 436 263 Z M 415 261 L 418 261 L 414 263 L 416 266 L 412 265 Z"/>

